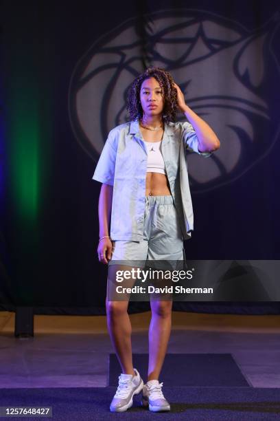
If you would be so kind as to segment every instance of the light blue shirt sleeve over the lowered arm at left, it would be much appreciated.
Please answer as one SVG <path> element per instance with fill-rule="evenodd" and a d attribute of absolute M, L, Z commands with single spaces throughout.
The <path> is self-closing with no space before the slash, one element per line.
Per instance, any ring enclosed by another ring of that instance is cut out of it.
<path fill-rule="evenodd" d="M 114 185 L 115 163 L 117 155 L 117 147 L 114 144 L 114 138 L 115 136 L 113 135 L 113 132 L 110 131 L 93 174 L 93 180 L 96 180 L 100 183 L 109 184 L 110 186 Z"/>

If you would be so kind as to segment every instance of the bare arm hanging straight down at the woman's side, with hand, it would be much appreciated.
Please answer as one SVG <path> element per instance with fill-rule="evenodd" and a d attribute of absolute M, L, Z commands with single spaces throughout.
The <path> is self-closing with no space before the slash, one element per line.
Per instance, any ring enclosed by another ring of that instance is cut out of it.
<path fill-rule="evenodd" d="M 102 184 L 100 189 L 100 197 L 98 202 L 98 217 L 100 225 L 100 238 L 104 235 L 109 236 L 110 232 L 110 216 L 112 211 L 113 186 Z M 97 248 L 99 261 L 108 263 L 111 258 L 112 242 L 110 238 L 100 240 Z M 107 256 L 106 256 L 107 254 Z"/>

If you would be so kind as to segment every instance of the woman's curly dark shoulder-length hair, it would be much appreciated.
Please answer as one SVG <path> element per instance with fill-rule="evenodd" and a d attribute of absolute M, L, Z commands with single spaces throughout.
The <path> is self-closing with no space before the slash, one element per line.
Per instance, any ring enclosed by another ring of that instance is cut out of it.
<path fill-rule="evenodd" d="M 161 89 L 163 89 L 163 121 L 174 122 L 178 112 L 177 91 L 174 87 L 174 80 L 169 72 L 161 67 L 150 66 L 145 72 L 139 74 L 130 85 L 127 97 L 126 109 L 131 120 L 143 117 L 143 109 L 140 102 L 140 89 L 143 81 L 148 78 L 155 78 Z"/>

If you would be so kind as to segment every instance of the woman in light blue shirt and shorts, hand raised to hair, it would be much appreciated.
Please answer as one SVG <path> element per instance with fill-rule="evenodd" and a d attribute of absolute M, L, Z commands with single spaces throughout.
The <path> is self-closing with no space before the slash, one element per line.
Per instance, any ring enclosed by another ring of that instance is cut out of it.
<path fill-rule="evenodd" d="M 174 123 L 182 111 L 189 122 Z M 99 200 L 100 262 L 108 263 L 108 279 L 135 266 L 135 260 L 183 260 L 183 240 L 193 229 L 185 150 L 205 157 L 220 141 L 185 103 L 183 92 L 169 72 L 149 67 L 128 94 L 130 122 L 110 131 L 93 179 L 102 182 Z M 110 222 L 110 227 L 109 227 Z M 110 234 L 109 234 L 110 232 Z M 152 300 L 149 329 L 148 382 L 132 365 L 128 299 L 108 296 L 108 331 L 121 365 L 119 387 L 110 411 L 126 411 L 143 389 L 150 411 L 170 411 L 159 374 L 171 329 L 171 300 Z"/>

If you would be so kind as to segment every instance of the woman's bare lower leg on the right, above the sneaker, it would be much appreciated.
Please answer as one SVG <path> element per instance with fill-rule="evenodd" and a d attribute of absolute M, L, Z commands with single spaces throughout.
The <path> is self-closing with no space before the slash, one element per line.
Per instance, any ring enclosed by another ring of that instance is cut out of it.
<path fill-rule="evenodd" d="M 172 301 L 151 301 L 148 381 L 159 380 L 171 331 Z"/>

